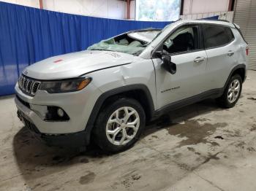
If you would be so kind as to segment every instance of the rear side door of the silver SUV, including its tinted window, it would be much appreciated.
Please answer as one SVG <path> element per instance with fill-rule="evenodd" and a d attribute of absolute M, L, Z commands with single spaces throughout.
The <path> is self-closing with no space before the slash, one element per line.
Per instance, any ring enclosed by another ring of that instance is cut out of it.
<path fill-rule="evenodd" d="M 230 27 L 203 25 L 204 44 L 208 57 L 206 82 L 208 90 L 224 87 L 231 69 L 237 63 L 239 44 Z"/>

